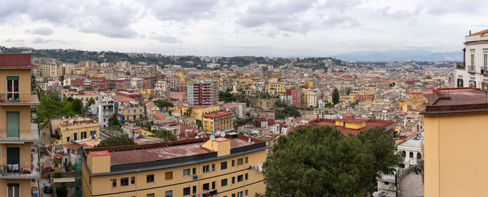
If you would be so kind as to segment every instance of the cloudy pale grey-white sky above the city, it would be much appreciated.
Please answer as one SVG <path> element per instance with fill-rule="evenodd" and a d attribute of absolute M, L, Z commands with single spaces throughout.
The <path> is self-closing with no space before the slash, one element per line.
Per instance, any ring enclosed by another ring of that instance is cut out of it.
<path fill-rule="evenodd" d="M 0 0 L 0 45 L 196 56 L 460 51 L 480 0 Z"/>

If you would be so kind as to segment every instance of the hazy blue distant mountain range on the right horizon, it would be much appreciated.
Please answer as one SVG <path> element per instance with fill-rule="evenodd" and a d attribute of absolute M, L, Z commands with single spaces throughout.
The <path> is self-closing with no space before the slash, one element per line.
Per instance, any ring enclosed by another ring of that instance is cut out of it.
<path fill-rule="evenodd" d="M 392 51 L 371 51 L 352 52 L 332 56 L 342 61 L 463 61 L 463 53 L 459 52 L 436 52 L 427 50 L 392 50 Z"/>

